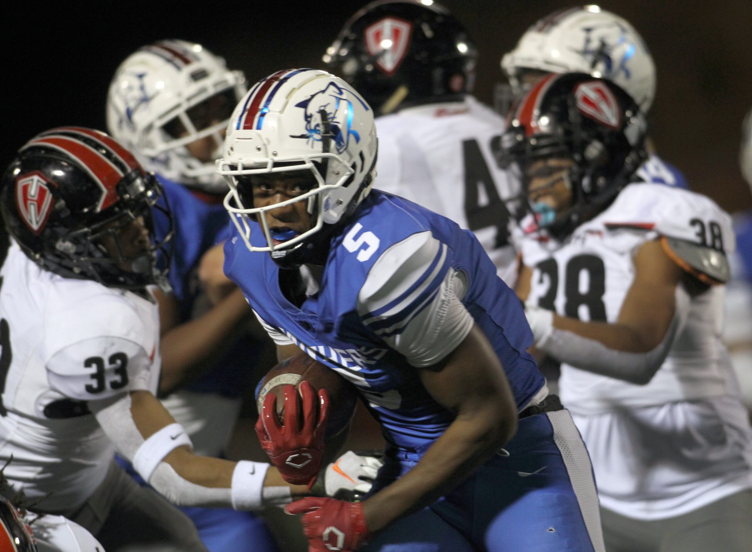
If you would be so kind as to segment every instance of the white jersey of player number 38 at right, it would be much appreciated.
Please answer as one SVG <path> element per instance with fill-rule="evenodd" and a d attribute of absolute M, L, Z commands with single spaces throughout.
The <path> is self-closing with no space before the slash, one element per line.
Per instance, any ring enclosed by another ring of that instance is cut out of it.
<path fill-rule="evenodd" d="M 633 255 L 663 236 L 726 253 L 735 247 L 729 216 L 710 199 L 634 183 L 566 240 L 523 239 L 523 263 L 532 268 L 528 303 L 615 323 L 634 279 Z M 606 508 L 671 517 L 752 487 L 752 432 L 721 342 L 723 294 L 714 286 L 692 297 L 686 323 L 647 385 L 562 363 L 562 402 L 590 450 Z"/>

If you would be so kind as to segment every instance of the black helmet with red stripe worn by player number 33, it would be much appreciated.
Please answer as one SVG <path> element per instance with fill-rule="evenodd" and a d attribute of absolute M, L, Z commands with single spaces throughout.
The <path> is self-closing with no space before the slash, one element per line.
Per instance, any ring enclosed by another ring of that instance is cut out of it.
<path fill-rule="evenodd" d="M 2 176 L 0 210 L 8 233 L 41 268 L 107 287 L 168 288 L 171 216 L 162 186 L 104 132 L 68 126 L 35 136 Z M 152 210 L 170 230 L 157 242 Z M 150 247 L 130 256 L 117 236 L 142 217 Z M 104 241 L 117 248 L 112 254 Z M 164 268 L 160 268 L 164 267 Z"/>

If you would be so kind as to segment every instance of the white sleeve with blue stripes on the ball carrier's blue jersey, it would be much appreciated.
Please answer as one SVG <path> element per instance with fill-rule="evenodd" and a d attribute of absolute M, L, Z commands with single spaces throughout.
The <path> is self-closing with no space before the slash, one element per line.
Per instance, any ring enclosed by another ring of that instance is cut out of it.
<path fill-rule="evenodd" d="M 358 294 L 362 323 L 418 368 L 451 353 L 473 319 L 461 299 L 463 272 L 450 265 L 450 250 L 431 232 L 418 232 L 389 247 L 368 272 Z"/>

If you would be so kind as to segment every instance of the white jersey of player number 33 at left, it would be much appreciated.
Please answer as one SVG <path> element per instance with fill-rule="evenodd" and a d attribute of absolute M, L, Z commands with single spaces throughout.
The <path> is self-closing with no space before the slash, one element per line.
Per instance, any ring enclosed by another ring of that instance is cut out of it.
<path fill-rule="evenodd" d="M 36 508 L 73 511 L 96 490 L 114 447 L 88 403 L 156 390 L 156 303 L 61 278 L 11 244 L 0 270 L 0 463 Z M 49 495 L 49 496 L 47 496 Z"/>

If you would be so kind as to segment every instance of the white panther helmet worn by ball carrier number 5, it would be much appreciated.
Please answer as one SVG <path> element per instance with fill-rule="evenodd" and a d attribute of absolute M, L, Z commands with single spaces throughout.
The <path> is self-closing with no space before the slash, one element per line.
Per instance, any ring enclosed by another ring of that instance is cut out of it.
<path fill-rule="evenodd" d="M 341 78 L 314 69 L 287 69 L 259 80 L 235 108 L 223 159 L 217 161 L 217 172 L 230 187 L 224 205 L 246 246 L 251 251 L 290 250 L 323 225 L 352 214 L 371 191 L 377 149 L 373 110 Z M 317 187 L 268 207 L 244 205 L 238 177 L 303 169 L 314 174 Z M 314 217 L 312 228 L 274 244 L 265 211 L 303 200 Z M 266 247 L 251 244 L 249 217 L 261 225 Z"/>

